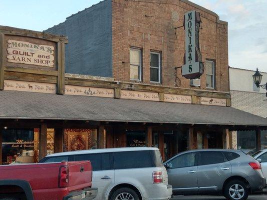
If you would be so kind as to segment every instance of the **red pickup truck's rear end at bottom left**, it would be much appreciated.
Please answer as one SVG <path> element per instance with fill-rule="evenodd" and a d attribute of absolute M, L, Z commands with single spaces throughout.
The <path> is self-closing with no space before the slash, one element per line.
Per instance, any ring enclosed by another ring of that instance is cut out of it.
<path fill-rule="evenodd" d="M 0 200 L 90 200 L 90 161 L 0 166 Z"/>

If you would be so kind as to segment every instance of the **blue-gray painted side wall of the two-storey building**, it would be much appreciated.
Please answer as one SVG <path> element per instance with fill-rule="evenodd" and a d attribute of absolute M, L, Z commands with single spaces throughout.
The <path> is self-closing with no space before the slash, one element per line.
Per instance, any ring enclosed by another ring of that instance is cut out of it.
<path fill-rule="evenodd" d="M 111 12 L 111 0 L 104 0 L 45 30 L 68 36 L 67 73 L 112 77 Z"/>

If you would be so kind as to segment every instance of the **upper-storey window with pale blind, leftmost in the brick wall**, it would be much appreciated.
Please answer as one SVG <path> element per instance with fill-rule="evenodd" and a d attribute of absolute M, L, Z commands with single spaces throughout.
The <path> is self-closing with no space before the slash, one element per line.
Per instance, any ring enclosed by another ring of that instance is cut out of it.
<path fill-rule="evenodd" d="M 130 48 L 130 79 L 141 80 L 141 49 Z"/>

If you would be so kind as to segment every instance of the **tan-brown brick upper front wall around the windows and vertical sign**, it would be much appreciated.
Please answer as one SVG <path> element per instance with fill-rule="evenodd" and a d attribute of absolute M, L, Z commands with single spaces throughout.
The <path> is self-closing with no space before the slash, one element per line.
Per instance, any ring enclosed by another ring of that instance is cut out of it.
<path fill-rule="evenodd" d="M 143 1 L 143 2 L 142 2 Z M 158 2 L 158 3 L 157 3 Z M 142 48 L 142 82 L 150 82 L 150 50 L 162 54 L 162 85 L 175 86 L 174 67 L 183 64 L 183 16 L 189 10 L 201 14 L 199 32 L 202 61 L 216 60 L 216 90 L 229 90 L 227 23 L 218 16 L 186 0 L 112 0 L 113 77 L 130 81 L 129 48 Z M 173 19 L 178 12 L 179 20 Z M 145 16 L 147 15 L 147 16 Z M 175 34 L 176 33 L 176 34 Z M 180 87 L 189 88 L 189 80 L 181 76 Z M 200 89 L 206 89 L 205 74 L 201 76 Z"/>

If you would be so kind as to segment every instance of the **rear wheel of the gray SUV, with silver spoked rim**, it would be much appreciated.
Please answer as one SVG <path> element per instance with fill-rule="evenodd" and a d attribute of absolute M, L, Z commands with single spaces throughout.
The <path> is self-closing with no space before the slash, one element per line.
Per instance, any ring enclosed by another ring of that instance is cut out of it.
<path fill-rule="evenodd" d="M 247 184 L 242 180 L 231 180 L 225 187 L 223 194 L 228 200 L 246 200 L 248 197 Z"/>

